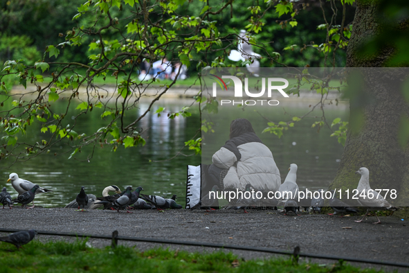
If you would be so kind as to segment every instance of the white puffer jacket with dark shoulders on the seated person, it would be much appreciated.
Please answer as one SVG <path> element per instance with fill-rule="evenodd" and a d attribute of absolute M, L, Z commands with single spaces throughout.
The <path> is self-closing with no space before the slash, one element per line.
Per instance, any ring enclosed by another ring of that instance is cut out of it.
<path fill-rule="evenodd" d="M 248 132 L 226 141 L 212 157 L 213 164 L 228 169 L 224 188 L 244 191 L 251 184 L 255 191 L 277 191 L 281 184 L 280 171 L 273 154 L 258 136 Z"/>

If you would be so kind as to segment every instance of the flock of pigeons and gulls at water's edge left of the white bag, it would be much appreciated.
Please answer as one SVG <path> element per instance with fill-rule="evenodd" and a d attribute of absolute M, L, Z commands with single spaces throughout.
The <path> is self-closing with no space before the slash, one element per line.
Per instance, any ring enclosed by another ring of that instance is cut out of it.
<path fill-rule="evenodd" d="M 7 182 L 11 182 L 12 187 L 15 188 L 19 196 L 12 200 L 10 193 L 7 192 L 7 188 L 4 187 L 0 193 L 0 203 L 4 206 L 9 206 L 10 209 L 13 203 L 20 203 L 21 206 L 26 206 L 33 202 L 33 206 L 28 207 L 31 209 L 34 207 L 34 198 L 36 193 L 46 193 L 46 188 L 40 187 L 32 182 L 19 178 L 17 173 L 11 173 Z M 109 192 L 113 191 L 116 194 L 109 195 Z M 118 186 L 111 185 L 104 188 L 102 191 L 102 197 L 96 197 L 93 194 L 85 193 L 85 188 L 82 187 L 80 193 L 78 193 L 75 200 L 67 204 L 66 208 L 84 209 L 98 209 L 104 206 L 104 209 L 113 209 L 118 212 L 120 209 L 124 209 L 130 212 L 129 209 L 181 209 L 182 206 L 176 203 L 176 195 L 167 199 L 158 195 L 144 195 L 140 193 L 143 188 L 138 186 L 135 191 L 132 191 L 132 187 L 128 186 L 124 192 L 120 191 Z"/>

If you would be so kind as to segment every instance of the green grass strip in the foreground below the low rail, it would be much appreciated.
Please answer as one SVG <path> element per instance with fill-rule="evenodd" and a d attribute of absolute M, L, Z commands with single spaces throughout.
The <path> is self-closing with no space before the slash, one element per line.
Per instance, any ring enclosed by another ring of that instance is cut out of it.
<path fill-rule="evenodd" d="M 198 253 L 134 247 L 116 249 L 87 247 L 87 240 L 75 243 L 33 240 L 18 251 L 0 243 L 0 273 L 3 272 L 381 272 L 352 267 L 340 261 L 327 265 L 296 263 L 291 258 L 244 261 L 232 253 Z"/>

